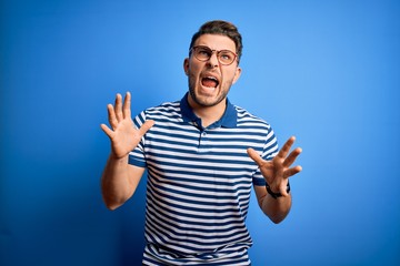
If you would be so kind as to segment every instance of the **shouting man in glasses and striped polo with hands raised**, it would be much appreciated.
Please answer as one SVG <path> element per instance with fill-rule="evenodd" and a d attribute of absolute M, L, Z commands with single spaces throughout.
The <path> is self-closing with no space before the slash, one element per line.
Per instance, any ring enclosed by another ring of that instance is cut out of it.
<path fill-rule="evenodd" d="M 131 95 L 108 105 L 111 154 L 102 175 L 110 209 L 130 198 L 148 168 L 143 265 L 250 265 L 244 221 L 253 186 L 274 223 L 290 211 L 289 177 L 301 149 L 278 152 L 270 125 L 227 99 L 241 69 L 241 35 L 226 21 L 204 23 L 192 37 L 181 101 L 141 112 Z"/>

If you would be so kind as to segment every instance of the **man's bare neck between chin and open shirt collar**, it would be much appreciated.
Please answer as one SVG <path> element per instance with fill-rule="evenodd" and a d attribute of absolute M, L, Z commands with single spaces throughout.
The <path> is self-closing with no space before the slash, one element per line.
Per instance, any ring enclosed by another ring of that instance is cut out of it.
<path fill-rule="evenodd" d="M 193 110 L 193 113 L 201 119 L 203 127 L 207 127 L 216 121 L 220 120 L 227 109 L 226 99 L 213 106 L 199 105 L 191 99 L 190 95 L 188 96 L 188 101 L 190 108 Z"/>

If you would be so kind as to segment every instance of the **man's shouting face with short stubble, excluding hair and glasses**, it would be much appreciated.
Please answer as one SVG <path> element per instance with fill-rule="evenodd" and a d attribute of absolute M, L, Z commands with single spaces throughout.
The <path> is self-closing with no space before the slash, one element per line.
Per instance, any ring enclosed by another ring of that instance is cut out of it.
<path fill-rule="evenodd" d="M 203 34 L 200 35 L 194 45 L 208 47 L 211 50 L 230 50 L 236 52 L 234 42 L 224 35 Z M 229 65 L 222 65 L 213 52 L 207 61 L 198 60 L 193 53 L 184 60 L 184 72 L 189 79 L 190 102 L 197 106 L 206 108 L 224 104 L 230 86 L 239 79 L 241 69 L 238 61 Z"/>

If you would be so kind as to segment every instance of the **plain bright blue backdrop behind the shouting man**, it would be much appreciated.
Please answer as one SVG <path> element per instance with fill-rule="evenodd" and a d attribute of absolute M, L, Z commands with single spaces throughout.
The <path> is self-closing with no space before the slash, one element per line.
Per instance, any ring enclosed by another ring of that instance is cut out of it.
<path fill-rule="evenodd" d="M 99 124 L 117 92 L 133 113 L 179 100 L 212 19 L 243 35 L 230 100 L 303 149 L 288 218 L 252 201 L 253 264 L 400 264 L 399 1 L 3 0 L 0 18 L 1 265 L 140 264 L 144 182 L 106 209 Z"/>

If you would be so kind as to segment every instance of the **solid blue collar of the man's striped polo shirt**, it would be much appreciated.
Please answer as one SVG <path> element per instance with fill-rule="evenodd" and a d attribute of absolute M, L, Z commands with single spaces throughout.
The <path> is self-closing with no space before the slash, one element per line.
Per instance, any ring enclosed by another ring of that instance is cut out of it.
<path fill-rule="evenodd" d="M 182 98 L 182 100 L 180 101 L 180 109 L 181 109 L 181 114 L 182 114 L 182 119 L 183 122 L 194 122 L 197 124 L 201 124 L 201 119 L 198 117 L 193 110 L 190 108 L 189 102 L 188 102 L 188 94 L 189 92 L 187 92 L 184 94 L 184 96 Z M 217 121 L 216 123 L 213 123 L 212 125 L 210 125 L 209 127 L 236 127 L 237 126 L 237 116 L 238 116 L 238 111 L 236 110 L 236 108 L 233 106 L 233 104 L 230 103 L 230 101 L 227 99 L 227 109 L 222 115 L 222 117 Z"/>

